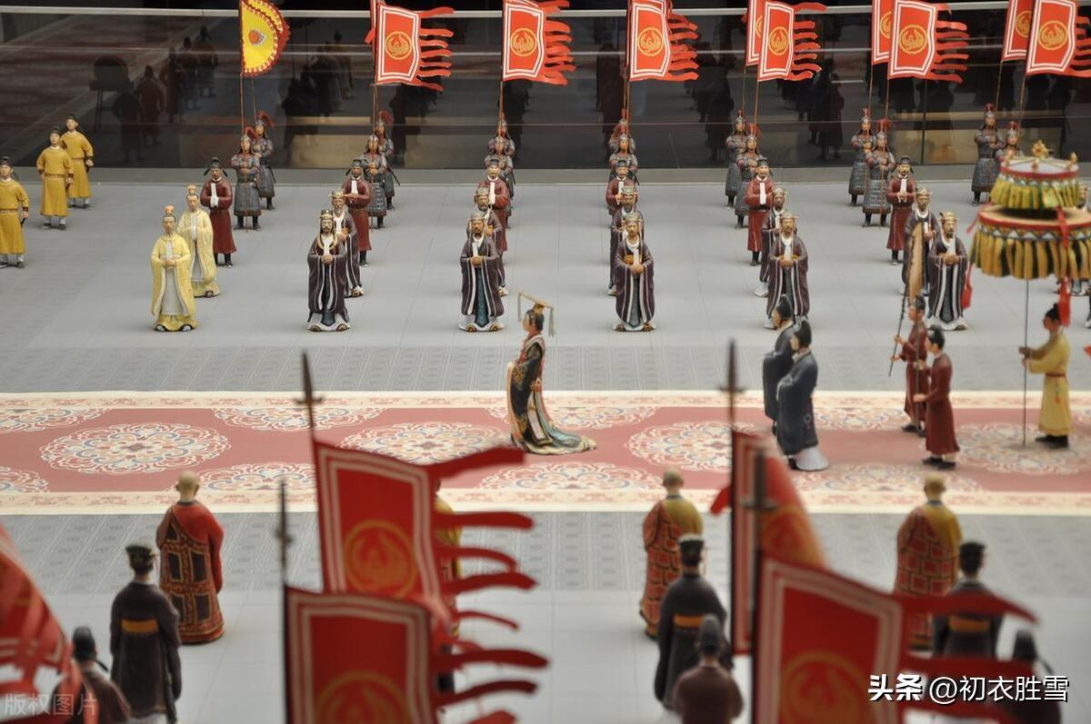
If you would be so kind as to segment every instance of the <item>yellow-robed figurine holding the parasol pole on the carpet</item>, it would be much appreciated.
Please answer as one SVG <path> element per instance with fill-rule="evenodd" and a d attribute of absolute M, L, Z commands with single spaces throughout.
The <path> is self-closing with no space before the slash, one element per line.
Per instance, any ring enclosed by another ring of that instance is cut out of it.
<path fill-rule="evenodd" d="M 1042 411 L 1038 417 L 1038 429 L 1043 434 L 1034 439 L 1054 449 L 1066 448 L 1068 433 L 1072 431 L 1072 411 L 1068 407 L 1068 338 L 1056 304 L 1045 313 L 1042 326 L 1050 331 L 1050 341 L 1038 349 L 1019 348 L 1027 371 L 1045 375 Z"/>

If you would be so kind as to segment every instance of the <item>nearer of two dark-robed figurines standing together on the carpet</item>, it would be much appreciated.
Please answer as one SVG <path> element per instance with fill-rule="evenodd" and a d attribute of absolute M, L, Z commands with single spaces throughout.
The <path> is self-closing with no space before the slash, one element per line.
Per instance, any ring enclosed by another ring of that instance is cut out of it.
<path fill-rule="evenodd" d="M 829 461 L 818 450 L 812 396 L 818 384 L 818 362 L 811 353 L 811 325 L 801 322 L 792 334 L 792 369 L 777 385 L 777 444 L 796 470 L 825 470 Z"/>

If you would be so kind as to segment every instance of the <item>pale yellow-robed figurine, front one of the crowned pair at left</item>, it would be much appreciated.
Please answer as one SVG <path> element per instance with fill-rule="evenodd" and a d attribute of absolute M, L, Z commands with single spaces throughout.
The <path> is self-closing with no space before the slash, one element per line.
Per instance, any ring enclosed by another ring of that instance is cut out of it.
<path fill-rule="evenodd" d="M 197 326 L 190 283 L 193 257 L 189 244 L 175 231 L 175 207 L 163 212 L 163 236 L 152 250 L 152 316 L 156 331 L 189 331 Z"/>

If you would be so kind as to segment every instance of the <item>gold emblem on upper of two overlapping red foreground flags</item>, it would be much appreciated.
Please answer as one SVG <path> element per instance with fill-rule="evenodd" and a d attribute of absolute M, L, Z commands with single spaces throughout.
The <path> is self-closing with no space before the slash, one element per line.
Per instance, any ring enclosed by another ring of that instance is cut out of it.
<path fill-rule="evenodd" d="M 355 591 L 400 599 L 417 582 L 417 562 L 405 531 L 365 520 L 345 536 L 345 578 Z M 375 720 L 382 721 L 382 720 Z"/>

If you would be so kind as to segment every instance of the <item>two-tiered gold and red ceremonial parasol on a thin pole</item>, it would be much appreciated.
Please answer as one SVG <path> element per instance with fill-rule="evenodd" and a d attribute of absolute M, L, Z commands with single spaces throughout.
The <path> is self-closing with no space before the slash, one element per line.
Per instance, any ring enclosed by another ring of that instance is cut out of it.
<path fill-rule="evenodd" d="M 991 277 L 1027 282 L 1023 346 L 1029 336 L 1030 280 L 1055 276 L 1060 285 L 1062 322 L 1069 317 L 1071 279 L 1087 278 L 1091 264 L 1091 213 L 1079 208 L 1076 154 L 1052 158 L 1045 145 L 1031 156 L 1009 156 L 1002 165 L 990 203 L 978 213 L 971 262 Z M 1023 445 L 1027 444 L 1027 372 L 1023 371 Z"/>

